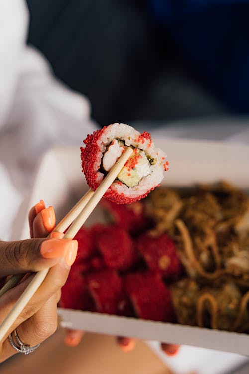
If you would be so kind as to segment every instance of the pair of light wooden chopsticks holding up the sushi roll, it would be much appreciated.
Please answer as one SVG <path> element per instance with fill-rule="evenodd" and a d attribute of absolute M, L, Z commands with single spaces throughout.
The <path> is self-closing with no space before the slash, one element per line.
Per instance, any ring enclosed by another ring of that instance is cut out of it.
<path fill-rule="evenodd" d="M 93 192 L 91 189 L 77 202 L 77 204 L 70 210 L 70 212 L 61 220 L 61 222 L 55 227 L 53 232 L 64 232 L 69 227 L 63 239 L 73 239 L 81 226 L 85 223 L 89 215 L 92 213 L 98 202 L 101 200 L 107 189 L 111 186 L 117 175 L 123 168 L 124 164 L 131 156 L 132 148 L 126 148 L 125 152 L 112 167 L 106 177 L 103 179 L 100 186 Z M 38 271 L 32 281 L 29 283 L 25 291 L 19 297 L 12 310 L 6 316 L 5 320 L 0 325 L 0 341 L 4 338 L 11 325 L 14 323 L 16 318 L 19 316 L 21 311 L 25 308 L 31 297 L 34 295 L 36 290 L 39 288 L 43 280 L 45 279 L 49 269 Z M 14 287 L 22 275 L 14 275 L 0 290 L 0 296 L 7 292 L 9 289 Z"/>

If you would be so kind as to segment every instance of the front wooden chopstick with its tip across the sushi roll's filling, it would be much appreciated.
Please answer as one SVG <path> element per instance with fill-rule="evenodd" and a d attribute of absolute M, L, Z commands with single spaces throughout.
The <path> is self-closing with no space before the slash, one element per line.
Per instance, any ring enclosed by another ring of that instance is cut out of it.
<path fill-rule="evenodd" d="M 124 164 L 131 156 L 133 150 L 132 148 L 126 148 L 125 152 L 116 162 L 116 164 L 112 167 L 109 171 L 107 176 L 103 179 L 103 182 L 100 186 L 96 189 L 96 191 L 92 194 L 92 197 L 89 199 L 86 206 L 83 208 L 81 213 L 78 217 L 74 220 L 73 224 L 67 230 L 66 234 L 64 235 L 65 239 L 73 239 L 74 236 L 77 234 L 81 226 L 84 224 L 86 219 L 89 217 L 91 212 L 94 210 L 98 202 L 101 200 L 107 189 L 111 186 L 121 169 L 123 168 Z M 73 210 L 73 209 L 72 209 Z M 25 308 L 31 297 L 34 295 L 36 290 L 39 288 L 43 280 L 45 279 L 49 269 L 44 269 L 38 271 L 32 281 L 29 283 L 25 291 L 19 297 L 17 302 L 15 303 L 12 310 L 6 316 L 2 324 L 0 325 L 0 341 L 5 337 L 8 330 L 11 328 L 12 324 L 19 316 L 21 311 Z"/>

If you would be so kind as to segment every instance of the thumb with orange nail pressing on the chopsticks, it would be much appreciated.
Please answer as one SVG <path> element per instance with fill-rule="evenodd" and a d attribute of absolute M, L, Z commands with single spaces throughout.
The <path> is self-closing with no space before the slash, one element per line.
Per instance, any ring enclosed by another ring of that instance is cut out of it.
<path fill-rule="evenodd" d="M 50 268 L 62 257 L 68 259 L 75 252 L 77 252 L 76 240 L 36 238 L 12 242 L 0 241 L 0 278 Z"/>

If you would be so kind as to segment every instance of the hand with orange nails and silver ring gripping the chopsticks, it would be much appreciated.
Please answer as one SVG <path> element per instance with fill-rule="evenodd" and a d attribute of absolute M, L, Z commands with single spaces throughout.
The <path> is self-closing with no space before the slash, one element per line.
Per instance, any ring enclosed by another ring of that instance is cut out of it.
<path fill-rule="evenodd" d="M 0 323 L 34 277 L 33 272 L 45 268 L 50 270 L 0 342 L 0 362 L 17 353 L 8 340 L 8 335 L 14 329 L 17 329 L 21 341 L 29 344 L 30 347 L 42 343 L 55 332 L 61 287 L 67 280 L 77 253 L 76 240 L 45 239 L 55 225 L 52 207 L 45 209 L 45 206 L 44 208 L 42 206 L 40 210 L 32 208 L 29 221 L 31 236 L 39 236 L 39 238 L 15 242 L 0 241 L 0 285 L 4 284 L 9 275 L 26 274 L 16 287 L 1 296 Z"/>

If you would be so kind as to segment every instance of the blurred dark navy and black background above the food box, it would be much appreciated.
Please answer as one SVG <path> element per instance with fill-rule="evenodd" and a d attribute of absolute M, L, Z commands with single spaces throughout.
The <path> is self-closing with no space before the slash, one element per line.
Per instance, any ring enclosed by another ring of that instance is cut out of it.
<path fill-rule="evenodd" d="M 249 111 L 249 1 L 27 4 L 28 42 L 101 125 Z"/>

